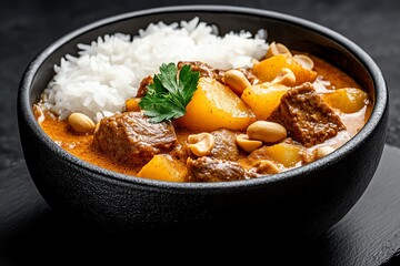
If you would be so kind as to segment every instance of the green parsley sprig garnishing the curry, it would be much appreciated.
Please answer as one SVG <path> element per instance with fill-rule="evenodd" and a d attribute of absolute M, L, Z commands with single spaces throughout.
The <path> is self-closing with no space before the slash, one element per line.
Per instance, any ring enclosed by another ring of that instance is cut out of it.
<path fill-rule="evenodd" d="M 200 73 L 191 71 L 188 64 L 178 74 L 174 63 L 163 63 L 160 73 L 154 74 L 153 83 L 147 86 L 148 91 L 139 106 L 144 110 L 144 115 L 151 117 L 152 123 L 183 116 L 199 79 Z"/>

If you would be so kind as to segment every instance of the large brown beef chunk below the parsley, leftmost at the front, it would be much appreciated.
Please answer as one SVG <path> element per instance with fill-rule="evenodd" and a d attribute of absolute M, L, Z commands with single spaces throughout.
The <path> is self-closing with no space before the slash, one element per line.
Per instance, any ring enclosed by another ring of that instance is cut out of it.
<path fill-rule="evenodd" d="M 126 112 L 102 119 L 93 143 L 117 161 L 144 165 L 153 155 L 171 151 L 177 135 L 170 123 L 150 123 L 140 112 Z"/>

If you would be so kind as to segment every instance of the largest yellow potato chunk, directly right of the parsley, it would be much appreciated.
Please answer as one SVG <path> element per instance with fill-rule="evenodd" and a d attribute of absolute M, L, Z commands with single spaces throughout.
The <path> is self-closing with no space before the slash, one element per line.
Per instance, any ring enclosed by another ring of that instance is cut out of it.
<path fill-rule="evenodd" d="M 254 113 L 228 86 L 211 78 L 201 78 L 187 106 L 176 123 L 190 130 L 211 132 L 221 127 L 246 130 L 256 121 Z"/>

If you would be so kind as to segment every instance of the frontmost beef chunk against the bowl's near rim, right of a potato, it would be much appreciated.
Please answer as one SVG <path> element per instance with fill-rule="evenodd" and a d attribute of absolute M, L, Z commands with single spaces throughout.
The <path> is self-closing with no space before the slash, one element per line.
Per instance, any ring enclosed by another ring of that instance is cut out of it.
<path fill-rule="evenodd" d="M 237 162 L 202 156 L 197 160 L 188 158 L 189 181 L 219 182 L 239 181 L 256 177 Z"/>

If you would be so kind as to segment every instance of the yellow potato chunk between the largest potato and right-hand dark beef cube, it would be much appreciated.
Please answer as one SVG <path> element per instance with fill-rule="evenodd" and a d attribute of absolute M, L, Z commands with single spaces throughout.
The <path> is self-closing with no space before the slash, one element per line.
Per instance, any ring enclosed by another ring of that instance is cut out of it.
<path fill-rule="evenodd" d="M 247 88 L 241 99 L 254 112 L 257 120 L 266 120 L 288 90 L 288 86 L 266 82 Z"/>

